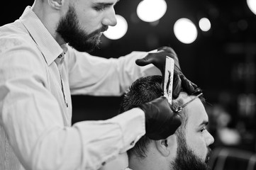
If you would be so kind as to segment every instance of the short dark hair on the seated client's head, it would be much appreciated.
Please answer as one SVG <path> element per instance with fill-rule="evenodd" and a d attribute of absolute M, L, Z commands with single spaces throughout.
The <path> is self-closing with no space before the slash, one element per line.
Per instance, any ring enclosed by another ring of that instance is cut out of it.
<path fill-rule="evenodd" d="M 161 81 L 162 76 L 141 77 L 140 79 L 134 81 L 126 94 L 123 96 L 119 113 L 123 113 L 130 110 L 131 108 L 140 106 L 140 104 L 148 103 L 155 98 L 163 96 Z M 183 91 L 182 89 L 182 92 L 186 91 Z M 172 101 L 172 105 L 174 107 L 182 106 L 182 104 L 182 98 L 177 98 L 176 100 Z M 185 111 L 186 109 L 179 113 L 182 118 L 182 125 L 180 128 L 178 128 L 176 132 L 177 135 L 184 135 L 184 129 L 187 124 L 187 115 L 183 114 Z M 135 154 L 135 156 L 140 159 L 147 157 L 147 148 L 151 141 L 152 140 L 150 140 L 146 135 L 141 137 L 140 140 L 138 140 L 138 142 L 135 144 L 135 147 L 128 150 L 128 157 L 133 154 Z"/>

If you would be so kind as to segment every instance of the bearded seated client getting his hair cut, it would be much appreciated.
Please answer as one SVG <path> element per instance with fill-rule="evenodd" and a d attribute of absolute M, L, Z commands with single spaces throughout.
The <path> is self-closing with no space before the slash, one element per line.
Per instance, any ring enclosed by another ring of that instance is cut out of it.
<path fill-rule="evenodd" d="M 162 96 L 161 81 L 160 76 L 143 77 L 135 81 L 123 98 L 120 113 Z M 200 89 L 198 92 L 201 92 Z M 182 106 L 195 95 L 188 95 L 182 90 L 179 97 L 172 100 L 172 106 Z M 196 98 L 178 113 L 182 125 L 174 135 L 165 140 L 150 140 L 147 136 L 140 138 L 135 147 L 128 150 L 129 169 L 209 169 L 209 145 L 214 139 L 206 130 L 208 115 L 203 102 L 204 98 Z"/>

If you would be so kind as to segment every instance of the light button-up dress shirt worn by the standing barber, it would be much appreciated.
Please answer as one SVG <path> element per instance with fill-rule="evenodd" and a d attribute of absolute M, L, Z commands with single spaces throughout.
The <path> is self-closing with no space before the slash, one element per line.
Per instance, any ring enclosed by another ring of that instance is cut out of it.
<path fill-rule="evenodd" d="M 105 59 L 55 41 L 30 6 L 0 28 L 0 169 L 99 169 L 145 134 L 139 108 L 71 126 L 71 94 L 118 96 L 138 77 L 146 52 Z M 89 114 L 89 113 L 88 113 Z"/>

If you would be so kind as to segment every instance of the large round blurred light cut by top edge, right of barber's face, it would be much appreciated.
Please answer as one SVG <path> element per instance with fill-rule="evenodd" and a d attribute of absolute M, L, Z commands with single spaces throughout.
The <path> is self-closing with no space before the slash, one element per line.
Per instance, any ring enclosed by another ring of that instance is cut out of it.
<path fill-rule="evenodd" d="M 154 22 L 162 18 L 167 10 L 165 0 L 143 0 L 137 7 L 138 17 L 145 22 Z"/>

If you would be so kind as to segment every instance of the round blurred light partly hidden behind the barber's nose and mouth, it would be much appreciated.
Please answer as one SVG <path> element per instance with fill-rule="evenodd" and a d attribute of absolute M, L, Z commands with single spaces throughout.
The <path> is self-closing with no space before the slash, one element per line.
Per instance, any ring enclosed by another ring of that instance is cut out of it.
<path fill-rule="evenodd" d="M 106 38 L 111 40 L 117 40 L 122 38 L 126 34 L 128 29 L 128 23 L 123 16 L 116 15 L 117 24 L 116 26 L 109 26 L 108 30 L 104 32 Z"/>

